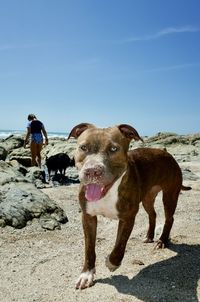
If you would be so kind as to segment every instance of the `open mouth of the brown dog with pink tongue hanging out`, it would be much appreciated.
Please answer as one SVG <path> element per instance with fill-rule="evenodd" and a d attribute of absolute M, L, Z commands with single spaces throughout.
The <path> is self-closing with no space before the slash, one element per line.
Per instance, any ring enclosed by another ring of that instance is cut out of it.
<path fill-rule="evenodd" d="M 85 197 L 88 201 L 98 201 L 103 198 L 108 190 L 113 185 L 113 182 L 108 185 L 90 183 L 85 185 Z"/>

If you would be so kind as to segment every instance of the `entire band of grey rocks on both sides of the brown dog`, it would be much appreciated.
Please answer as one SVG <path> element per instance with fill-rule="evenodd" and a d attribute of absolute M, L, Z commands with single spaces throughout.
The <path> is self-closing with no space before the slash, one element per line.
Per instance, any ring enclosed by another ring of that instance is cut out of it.
<path fill-rule="evenodd" d="M 21 228 L 27 221 L 36 218 L 44 228 L 59 228 L 60 223 L 67 222 L 66 214 L 39 189 L 47 185 L 46 156 L 64 152 L 72 158 L 76 140 L 50 138 L 49 144 L 42 149 L 42 169 L 30 167 L 30 148 L 23 148 L 23 142 L 23 137 L 14 135 L 0 141 L 0 225 Z M 152 137 L 144 137 L 144 142 L 132 141 L 130 148 L 137 147 L 167 149 L 181 166 L 184 181 L 199 181 L 199 171 L 191 169 L 188 163 L 199 162 L 200 133 L 192 135 L 158 133 Z M 75 167 L 68 168 L 66 174 L 60 179 L 58 174 L 57 179 L 56 177 L 52 179 L 52 185 L 78 182 Z"/>

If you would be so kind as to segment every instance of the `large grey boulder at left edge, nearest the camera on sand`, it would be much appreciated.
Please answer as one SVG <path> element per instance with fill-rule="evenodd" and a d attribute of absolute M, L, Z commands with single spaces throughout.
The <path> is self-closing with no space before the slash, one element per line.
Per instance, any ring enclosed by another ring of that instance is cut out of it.
<path fill-rule="evenodd" d="M 22 228 L 37 218 L 43 228 L 53 230 L 68 221 L 63 209 L 38 190 L 19 167 L 0 161 L 0 186 L 0 226 Z"/>

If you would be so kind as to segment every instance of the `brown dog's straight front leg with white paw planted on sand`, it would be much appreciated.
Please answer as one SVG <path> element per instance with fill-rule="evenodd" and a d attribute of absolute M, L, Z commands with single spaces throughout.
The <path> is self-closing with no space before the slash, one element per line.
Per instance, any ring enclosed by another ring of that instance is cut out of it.
<path fill-rule="evenodd" d="M 82 224 L 85 236 L 85 263 L 82 273 L 76 282 L 77 289 L 92 286 L 95 273 L 97 217 L 83 213 Z"/>

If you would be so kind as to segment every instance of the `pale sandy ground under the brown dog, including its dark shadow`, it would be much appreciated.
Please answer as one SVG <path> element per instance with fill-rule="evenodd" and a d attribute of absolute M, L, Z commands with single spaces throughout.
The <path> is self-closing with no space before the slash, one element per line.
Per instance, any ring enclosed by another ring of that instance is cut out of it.
<path fill-rule="evenodd" d="M 141 207 L 124 261 L 114 273 L 104 262 L 117 221 L 100 217 L 95 285 L 80 291 L 74 287 L 84 255 L 77 190 L 78 185 L 43 189 L 67 213 L 69 222 L 61 230 L 45 231 L 36 220 L 21 230 L 1 229 L 0 301 L 199 301 L 200 191 L 180 195 L 171 244 L 163 250 L 142 242 L 147 216 Z M 160 196 L 156 209 L 159 225 Z"/>

